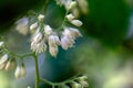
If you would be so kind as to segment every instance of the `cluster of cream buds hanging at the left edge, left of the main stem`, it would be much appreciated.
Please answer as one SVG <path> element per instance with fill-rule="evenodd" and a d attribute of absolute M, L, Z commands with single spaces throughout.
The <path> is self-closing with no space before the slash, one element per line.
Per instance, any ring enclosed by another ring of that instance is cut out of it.
<path fill-rule="evenodd" d="M 0 42 L 0 48 L 3 53 L 3 55 L 0 57 L 0 69 L 11 70 L 13 67 L 16 67 L 17 64 L 16 58 L 11 57 L 10 53 L 4 51 L 6 47 L 3 41 Z M 14 72 L 16 78 L 22 78 L 25 77 L 25 75 L 27 73 L 25 73 L 24 64 L 22 64 L 21 66 L 18 65 Z"/>

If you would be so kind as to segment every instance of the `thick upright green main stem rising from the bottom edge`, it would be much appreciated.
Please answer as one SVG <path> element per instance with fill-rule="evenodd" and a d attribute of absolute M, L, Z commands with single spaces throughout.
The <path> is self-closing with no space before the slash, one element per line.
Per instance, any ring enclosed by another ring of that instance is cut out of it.
<path fill-rule="evenodd" d="M 35 63 L 35 88 L 39 88 L 40 75 L 39 75 L 38 56 L 34 54 L 33 57 Z"/>

